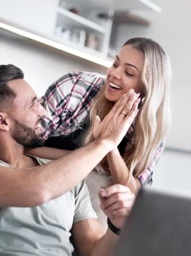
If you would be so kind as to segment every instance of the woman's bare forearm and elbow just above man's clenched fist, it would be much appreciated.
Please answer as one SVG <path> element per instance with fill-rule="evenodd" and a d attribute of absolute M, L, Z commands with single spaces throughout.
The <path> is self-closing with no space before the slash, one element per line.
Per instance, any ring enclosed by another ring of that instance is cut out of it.
<path fill-rule="evenodd" d="M 113 184 L 122 184 L 130 188 L 130 191 L 135 193 L 139 191 L 141 183 L 138 178 L 131 176 L 129 179 L 129 173 L 127 165 L 122 159 L 118 148 L 114 148 L 106 156 L 109 165 L 109 171 L 112 176 Z"/>

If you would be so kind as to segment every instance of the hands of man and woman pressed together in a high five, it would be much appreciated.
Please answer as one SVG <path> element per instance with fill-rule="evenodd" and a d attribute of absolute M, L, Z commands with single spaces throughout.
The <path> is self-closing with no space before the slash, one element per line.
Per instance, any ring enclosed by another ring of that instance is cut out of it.
<path fill-rule="evenodd" d="M 140 102 L 139 94 L 130 89 L 115 103 L 112 110 L 103 121 L 95 116 L 93 124 L 93 136 L 95 139 L 104 138 L 117 146 L 128 132 L 136 114 Z"/>

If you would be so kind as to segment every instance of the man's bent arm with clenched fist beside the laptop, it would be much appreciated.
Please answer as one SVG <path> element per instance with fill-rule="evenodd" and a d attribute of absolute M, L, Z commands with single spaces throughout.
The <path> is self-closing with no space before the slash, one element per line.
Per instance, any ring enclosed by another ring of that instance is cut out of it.
<path fill-rule="evenodd" d="M 101 195 L 101 193 L 105 193 L 105 195 Z M 121 229 L 133 206 L 135 196 L 128 187 L 115 184 L 102 189 L 100 197 L 101 208 L 112 224 Z M 119 239 L 119 236 L 109 228 L 104 234 L 97 219 L 87 219 L 75 223 L 72 227 L 72 236 L 79 254 L 83 256 L 110 256 Z"/>

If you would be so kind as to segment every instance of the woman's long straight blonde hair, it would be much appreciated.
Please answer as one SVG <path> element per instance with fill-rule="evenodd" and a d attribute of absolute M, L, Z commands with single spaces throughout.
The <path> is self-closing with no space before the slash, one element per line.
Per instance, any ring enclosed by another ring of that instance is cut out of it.
<path fill-rule="evenodd" d="M 171 66 L 163 48 L 152 39 L 136 37 L 129 39 L 122 47 L 125 45 L 133 45 L 133 48 L 139 50 L 144 58 L 141 74 L 144 94 L 142 105 L 136 117 L 128 152 L 126 151 L 123 156 L 130 170 L 130 176 L 139 176 L 149 167 L 157 146 L 165 138 L 171 124 Z M 94 116 L 98 115 L 103 120 L 113 106 L 113 102 L 109 102 L 104 97 L 104 87 L 99 91 L 90 110 L 91 125 L 85 143 L 93 140 Z"/>

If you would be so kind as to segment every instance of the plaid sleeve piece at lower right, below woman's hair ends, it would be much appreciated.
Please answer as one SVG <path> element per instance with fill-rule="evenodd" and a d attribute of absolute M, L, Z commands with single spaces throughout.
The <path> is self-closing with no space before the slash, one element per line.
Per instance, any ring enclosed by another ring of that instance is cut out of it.
<path fill-rule="evenodd" d="M 163 153 L 164 148 L 165 139 L 160 143 L 160 146 L 158 146 L 157 150 L 155 151 L 155 155 L 149 167 L 146 170 L 142 171 L 142 173 L 139 176 L 137 176 L 137 178 L 139 178 L 139 181 L 141 182 L 141 186 L 147 186 L 152 184 L 153 168 L 155 167 L 155 165 L 157 165 L 157 162 L 160 159 L 160 156 Z"/>

